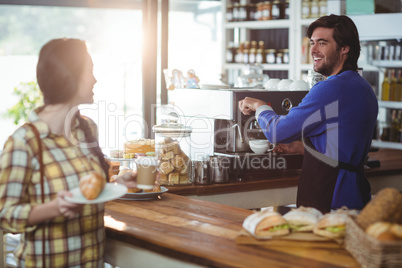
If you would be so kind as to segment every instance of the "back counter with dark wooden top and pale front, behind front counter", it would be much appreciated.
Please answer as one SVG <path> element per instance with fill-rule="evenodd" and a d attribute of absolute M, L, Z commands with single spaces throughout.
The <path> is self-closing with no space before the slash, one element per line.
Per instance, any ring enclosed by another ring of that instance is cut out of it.
<path fill-rule="evenodd" d="M 369 159 L 380 160 L 381 166 L 366 170 L 375 194 L 384 187 L 402 191 L 402 151 L 380 149 L 370 152 Z M 265 177 L 245 177 L 225 184 L 168 186 L 169 192 L 191 198 L 213 201 L 240 208 L 280 206 L 296 201 L 301 170 L 268 171 Z"/>

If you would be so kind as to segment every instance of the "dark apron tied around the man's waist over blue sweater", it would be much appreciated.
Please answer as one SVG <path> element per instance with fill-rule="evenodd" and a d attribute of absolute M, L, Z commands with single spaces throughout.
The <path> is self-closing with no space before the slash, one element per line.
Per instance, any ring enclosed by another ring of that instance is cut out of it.
<path fill-rule="evenodd" d="M 314 207 L 322 213 L 331 211 L 332 197 L 340 169 L 356 172 L 359 176 L 363 204 L 370 201 L 370 184 L 364 174 L 364 163 L 353 166 L 338 162 L 319 153 L 310 138 L 305 140 L 304 159 L 297 190 L 297 207 Z M 361 208 L 360 208 L 361 209 Z"/>

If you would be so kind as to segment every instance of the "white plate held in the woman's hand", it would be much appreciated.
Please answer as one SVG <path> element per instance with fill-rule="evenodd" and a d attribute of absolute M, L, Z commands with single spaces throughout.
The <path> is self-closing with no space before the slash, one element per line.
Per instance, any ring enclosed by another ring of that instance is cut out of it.
<path fill-rule="evenodd" d="M 127 187 L 119 183 L 106 183 L 105 188 L 103 188 L 103 191 L 100 193 L 100 195 L 93 200 L 86 199 L 82 195 L 79 187 L 70 190 L 70 193 L 73 194 L 72 197 L 65 197 L 68 202 L 77 204 L 96 204 L 122 197 L 127 193 Z"/>

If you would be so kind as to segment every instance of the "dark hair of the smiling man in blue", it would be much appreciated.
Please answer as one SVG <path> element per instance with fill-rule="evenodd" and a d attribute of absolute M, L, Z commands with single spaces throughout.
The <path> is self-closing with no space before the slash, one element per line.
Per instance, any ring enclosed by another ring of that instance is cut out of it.
<path fill-rule="evenodd" d="M 339 48 L 349 46 L 348 57 L 343 64 L 341 72 L 346 70 L 357 71 L 357 60 L 360 57 L 360 40 L 354 22 L 345 15 L 324 16 L 313 23 L 307 29 L 307 36 L 311 38 L 318 27 L 334 29 L 333 38 Z"/>

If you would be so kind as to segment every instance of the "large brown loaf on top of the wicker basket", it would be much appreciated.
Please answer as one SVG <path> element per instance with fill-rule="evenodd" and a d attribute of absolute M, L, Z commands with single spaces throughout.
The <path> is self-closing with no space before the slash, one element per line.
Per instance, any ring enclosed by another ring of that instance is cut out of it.
<path fill-rule="evenodd" d="M 397 189 L 379 191 L 356 217 L 356 223 L 364 230 L 378 221 L 402 223 L 402 194 Z"/>

